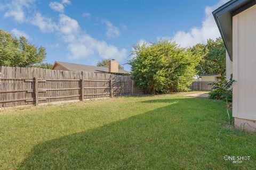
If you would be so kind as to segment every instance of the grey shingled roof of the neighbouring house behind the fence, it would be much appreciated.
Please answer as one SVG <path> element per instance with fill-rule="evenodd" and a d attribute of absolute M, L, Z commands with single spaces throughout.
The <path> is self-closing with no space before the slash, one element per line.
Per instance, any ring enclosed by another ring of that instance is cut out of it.
<path fill-rule="evenodd" d="M 108 73 L 108 67 L 101 67 L 101 66 L 93 66 L 93 65 L 84 65 L 84 64 L 75 64 L 75 63 L 66 63 L 66 62 L 55 62 L 52 66 L 52 69 L 55 67 L 56 64 L 60 64 L 61 66 L 65 67 L 65 69 L 70 71 L 84 71 L 84 72 L 94 72 L 94 73 Z M 118 73 L 129 73 L 126 70 L 119 69 Z"/>

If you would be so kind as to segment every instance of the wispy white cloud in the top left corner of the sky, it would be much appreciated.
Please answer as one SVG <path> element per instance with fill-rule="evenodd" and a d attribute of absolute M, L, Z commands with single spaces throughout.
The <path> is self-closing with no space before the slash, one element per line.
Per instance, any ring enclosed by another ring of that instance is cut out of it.
<path fill-rule="evenodd" d="M 13 0 L 2 6 L 6 11 L 4 17 L 12 17 L 17 22 L 25 22 L 26 14 L 24 12 L 25 8 L 30 7 L 35 0 Z"/>

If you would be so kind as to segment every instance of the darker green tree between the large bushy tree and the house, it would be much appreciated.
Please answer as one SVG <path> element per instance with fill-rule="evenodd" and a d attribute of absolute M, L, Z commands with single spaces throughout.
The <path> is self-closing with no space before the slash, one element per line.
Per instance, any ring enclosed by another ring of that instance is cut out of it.
<path fill-rule="evenodd" d="M 189 49 L 202 60 L 196 67 L 197 74 L 226 74 L 226 48 L 221 37 L 207 40 L 207 44 L 197 44 Z"/>

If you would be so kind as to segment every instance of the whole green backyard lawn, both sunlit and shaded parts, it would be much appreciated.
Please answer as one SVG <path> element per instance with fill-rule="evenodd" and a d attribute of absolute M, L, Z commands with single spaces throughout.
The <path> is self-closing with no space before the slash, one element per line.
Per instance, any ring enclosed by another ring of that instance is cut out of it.
<path fill-rule="evenodd" d="M 225 128 L 223 101 L 183 95 L 2 111 L 0 169 L 254 169 L 256 135 Z"/>

